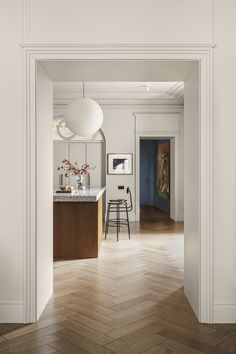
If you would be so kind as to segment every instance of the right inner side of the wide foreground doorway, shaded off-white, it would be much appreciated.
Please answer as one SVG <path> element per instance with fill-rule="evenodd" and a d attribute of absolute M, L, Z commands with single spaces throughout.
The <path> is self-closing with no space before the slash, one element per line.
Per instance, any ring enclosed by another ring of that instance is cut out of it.
<path fill-rule="evenodd" d="M 184 106 L 184 292 L 200 311 L 199 65 L 185 81 Z"/>

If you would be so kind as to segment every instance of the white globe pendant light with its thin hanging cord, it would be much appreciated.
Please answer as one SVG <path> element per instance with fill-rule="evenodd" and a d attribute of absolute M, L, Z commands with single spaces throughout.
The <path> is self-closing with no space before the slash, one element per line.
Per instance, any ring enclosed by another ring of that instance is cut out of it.
<path fill-rule="evenodd" d="M 67 127 L 80 136 L 92 136 L 101 128 L 103 111 L 97 102 L 84 97 L 84 83 L 83 98 L 69 104 L 64 118 Z"/>

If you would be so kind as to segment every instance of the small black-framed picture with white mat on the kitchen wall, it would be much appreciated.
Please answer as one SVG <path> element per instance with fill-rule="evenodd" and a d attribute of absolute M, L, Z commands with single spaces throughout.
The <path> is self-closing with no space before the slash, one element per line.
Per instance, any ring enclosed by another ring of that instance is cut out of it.
<path fill-rule="evenodd" d="M 109 175 L 132 175 L 133 154 L 107 154 L 107 173 Z"/>

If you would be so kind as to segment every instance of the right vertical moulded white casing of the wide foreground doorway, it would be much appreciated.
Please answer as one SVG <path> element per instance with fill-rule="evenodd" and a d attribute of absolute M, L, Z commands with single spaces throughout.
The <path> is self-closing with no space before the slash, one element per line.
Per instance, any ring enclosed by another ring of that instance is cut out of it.
<path fill-rule="evenodd" d="M 213 62 L 212 50 L 200 65 L 200 313 L 213 322 Z"/>

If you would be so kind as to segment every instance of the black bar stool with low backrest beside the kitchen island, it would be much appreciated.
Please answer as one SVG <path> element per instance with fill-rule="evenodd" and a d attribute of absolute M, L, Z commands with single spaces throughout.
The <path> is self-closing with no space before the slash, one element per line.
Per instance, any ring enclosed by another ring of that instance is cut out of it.
<path fill-rule="evenodd" d="M 105 240 L 109 227 L 116 228 L 117 241 L 119 241 L 119 232 L 121 226 L 127 226 L 128 235 L 130 239 L 130 225 L 129 225 L 129 212 L 133 209 L 132 195 L 129 187 L 126 189 L 126 193 L 129 194 L 130 204 L 128 206 L 126 199 L 110 199 L 107 203 L 106 213 L 106 226 L 105 226 Z M 115 214 L 114 217 L 110 217 L 111 214 Z M 121 217 L 120 214 L 124 213 L 125 216 Z"/>

